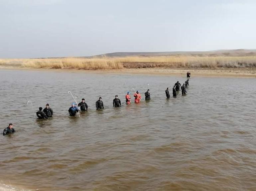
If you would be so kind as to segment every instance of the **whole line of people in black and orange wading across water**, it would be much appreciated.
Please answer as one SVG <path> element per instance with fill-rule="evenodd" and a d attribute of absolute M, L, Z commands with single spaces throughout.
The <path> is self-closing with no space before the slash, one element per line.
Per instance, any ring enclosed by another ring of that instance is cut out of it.
<path fill-rule="evenodd" d="M 191 74 L 190 72 L 187 72 L 187 77 L 190 77 Z M 185 81 L 185 83 L 183 83 L 183 85 L 181 85 L 181 83 L 179 81 L 177 81 L 174 86 L 173 86 L 173 97 L 177 96 L 177 91 L 180 91 L 180 89 L 182 90 L 182 95 L 186 95 L 187 91 L 186 88 L 189 87 L 189 79 L 187 79 Z M 150 100 L 150 90 L 148 89 L 144 94 L 145 94 L 145 100 L 148 101 Z M 165 90 L 166 93 L 166 97 L 170 98 L 170 93 L 169 93 L 169 87 Z M 141 102 L 141 94 L 140 91 L 136 91 L 133 95 L 134 97 L 134 102 L 135 103 L 139 103 Z M 125 95 L 125 102 L 127 105 L 131 104 L 131 97 L 130 97 L 130 92 L 127 92 L 127 94 Z M 102 98 L 99 97 L 99 99 L 96 101 L 95 103 L 96 106 L 96 110 L 101 110 L 104 109 L 104 104 L 102 101 Z M 115 95 L 115 99 L 113 99 L 113 107 L 121 107 L 121 100 L 118 98 L 118 95 Z M 79 108 L 78 108 L 79 107 Z M 68 109 L 68 113 L 70 116 L 76 116 L 77 112 L 79 112 L 79 110 L 81 112 L 83 111 L 88 111 L 88 105 L 87 103 L 85 103 L 84 98 L 82 99 L 82 101 L 76 105 L 76 103 L 72 103 L 71 107 Z M 43 109 L 42 107 L 39 108 L 39 110 L 36 113 L 38 119 L 48 119 L 53 117 L 53 110 L 50 108 L 49 104 L 46 104 L 45 109 Z M 15 132 L 15 129 L 13 128 L 13 124 L 10 123 L 8 125 L 7 128 L 4 129 L 3 131 L 3 135 L 6 135 L 8 133 L 13 133 Z"/>

